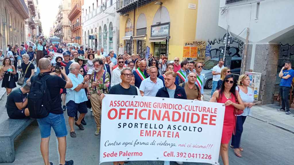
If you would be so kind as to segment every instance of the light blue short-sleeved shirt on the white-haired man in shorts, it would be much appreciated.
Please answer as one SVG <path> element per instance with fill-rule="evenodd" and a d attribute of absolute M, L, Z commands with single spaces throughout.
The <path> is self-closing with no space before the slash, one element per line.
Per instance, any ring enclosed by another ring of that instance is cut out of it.
<path fill-rule="evenodd" d="M 78 78 L 76 78 L 76 75 L 69 73 L 67 75 L 69 79 L 71 79 L 71 82 L 73 83 L 72 88 L 66 89 L 66 103 L 70 100 L 73 100 L 76 104 L 88 101 L 88 98 L 86 96 L 86 92 L 84 89 L 79 90 L 78 92 L 74 89 L 83 82 L 84 78 L 81 74 L 78 74 Z"/>

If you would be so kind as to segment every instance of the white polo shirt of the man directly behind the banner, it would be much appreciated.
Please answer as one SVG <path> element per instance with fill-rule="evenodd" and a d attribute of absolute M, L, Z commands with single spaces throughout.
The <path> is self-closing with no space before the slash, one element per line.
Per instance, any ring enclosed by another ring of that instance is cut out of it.
<path fill-rule="evenodd" d="M 163 82 L 161 79 L 157 78 L 156 83 L 153 83 L 153 81 L 150 80 L 150 77 L 148 77 L 141 82 L 139 90 L 144 92 L 144 96 L 155 97 L 158 90 L 162 87 Z"/>

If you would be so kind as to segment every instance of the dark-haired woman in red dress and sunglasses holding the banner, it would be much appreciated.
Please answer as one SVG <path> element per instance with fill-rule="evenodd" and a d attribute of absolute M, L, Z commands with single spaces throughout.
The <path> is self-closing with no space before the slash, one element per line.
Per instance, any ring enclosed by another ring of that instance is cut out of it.
<path fill-rule="evenodd" d="M 228 146 L 235 128 L 235 108 L 244 110 L 245 106 L 239 92 L 235 90 L 236 83 L 233 75 L 225 76 L 220 90 L 213 93 L 210 101 L 225 104 L 225 117 L 223 119 L 223 133 L 220 144 L 220 156 L 224 165 L 229 164 Z"/>

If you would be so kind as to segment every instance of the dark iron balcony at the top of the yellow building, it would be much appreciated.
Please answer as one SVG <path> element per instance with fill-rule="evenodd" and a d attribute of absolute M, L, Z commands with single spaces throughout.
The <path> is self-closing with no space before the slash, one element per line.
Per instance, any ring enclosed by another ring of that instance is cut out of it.
<path fill-rule="evenodd" d="M 150 4 L 153 1 L 156 1 L 156 0 L 117 0 L 116 12 L 120 15 L 123 15 L 141 6 Z"/>

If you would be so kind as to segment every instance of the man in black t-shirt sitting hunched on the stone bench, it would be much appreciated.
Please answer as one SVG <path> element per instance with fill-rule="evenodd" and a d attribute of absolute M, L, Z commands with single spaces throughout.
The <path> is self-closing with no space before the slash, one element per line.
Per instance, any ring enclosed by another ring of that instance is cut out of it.
<path fill-rule="evenodd" d="M 12 91 L 7 97 L 7 115 L 11 119 L 23 119 L 30 115 L 27 108 L 27 93 L 30 91 L 31 83 L 26 83 L 24 87 Z"/>

